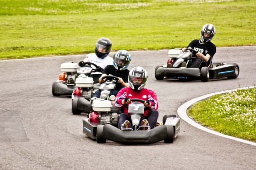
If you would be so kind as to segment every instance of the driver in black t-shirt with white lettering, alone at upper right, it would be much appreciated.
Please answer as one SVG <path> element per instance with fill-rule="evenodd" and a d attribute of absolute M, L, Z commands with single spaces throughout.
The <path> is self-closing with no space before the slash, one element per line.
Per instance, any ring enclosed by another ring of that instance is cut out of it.
<path fill-rule="evenodd" d="M 211 43 L 212 38 L 215 35 L 215 27 L 211 24 L 203 25 L 201 30 L 201 39 L 200 40 L 192 40 L 189 43 L 188 48 L 192 48 L 194 51 L 192 58 L 192 64 L 190 67 L 192 68 L 202 68 L 204 66 L 210 65 L 211 58 L 216 53 L 216 46 Z M 182 52 L 186 51 L 186 48 L 182 48 Z M 186 63 L 181 64 L 182 67 L 186 67 Z"/>

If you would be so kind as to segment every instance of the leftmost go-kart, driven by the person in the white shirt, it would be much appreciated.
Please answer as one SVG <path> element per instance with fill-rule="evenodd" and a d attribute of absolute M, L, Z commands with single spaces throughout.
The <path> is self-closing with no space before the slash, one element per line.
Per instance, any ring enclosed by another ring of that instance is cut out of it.
<path fill-rule="evenodd" d="M 62 71 L 62 73 L 59 75 L 59 80 L 53 82 L 53 85 L 52 85 L 53 96 L 62 96 L 62 95 L 71 96 L 75 89 L 76 78 L 79 75 L 83 75 L 84 77 L 89 77 L 91 72 L 102 70 L 101 67 L 99 67 L 94 63 L 85 62 L 85 64 L 86 65 L 84 67 L 81 67 L 80 69 L 78 69 L 79 66 L 77 63 L 73 63 L 73 62 L 62 63 L 60 65 L 60 70 Z M 80 83 L 84 83 L 84 80 L 80 79 Z M 95 85 L 95 87 L 97 87 L 97 85 Z"/>

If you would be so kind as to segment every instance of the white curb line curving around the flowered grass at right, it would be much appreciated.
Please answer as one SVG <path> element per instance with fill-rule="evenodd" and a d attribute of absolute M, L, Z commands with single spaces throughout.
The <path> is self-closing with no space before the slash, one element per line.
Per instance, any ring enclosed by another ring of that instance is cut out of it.
<path fill-rule="evenodd" d="M 244 87 L 244 88 L 237 88 L 237 89 L 233 89 L 233 90 L 225 90 L 225 91 L 220 91 L 220 92 L 216 92 L 216 93 L 211 93 L 211 94 L 206 94 L 206 95 L 203 95 L 203 96 L 200 96 L 198 98 L 194 98 L 190 101 L 187 101 L 186 103 L 184 103 L 183 105 L 181 105 L 177 112 L 178 112 L 178 115 L 180 116 L 181 119 L 183 119 L 185 122 L 189 123 L 190 125 L 200 129 L 200 130 L 203 130 L 203 131 L 206 131 L 208 133 L 211 133 L 211 134 L 215 134 L 215 135 L 218 135 L 218 136 L 221 136 L 221 137 L 226 137 L 226 138 L 229 138 L 229 139 L 232 139 L 232 140 L 235 140 L 235 141 L 240 141 L 240 142 L 243 142 L 243 143 L 246 143 L 246 144 L 249 144 L 249 145 L 254 145 L 256 146 L 256 143 L 255 142 L 252 142 L 252 141 L 247 141 L 247 140 L 244 140 L 244 139 L 240 139 L 238 137 L 232 137 L 232 136 L 229 136 L 229 135 L 226 135 L 226 134 L 222 134 L 222 133 L 219 133 L 219 132 L 216 132 L 214 130 L 211 130 L 211 129 L 208 129 L 207 127 L 203 127 L 202 125 L 196 123 L 193 119 L 191 119 L 190 117 L 188 117 L 187 115 L 187 109 L 193 105 L 194 103 L 198 102 L 198 101 L 201 101 L 203 99 L 206 99 L 206 98 L 209 98 L 213 95 L 216 95 L 216 94 L 223 94 L 223 93 L 229 93 L 229 92 L 233 92 L 233 91 L 236 91 L 238 89 L 247 89 L 247 88 L 254 88 L 256 86 L 252 86 L 252 87 Z"/>

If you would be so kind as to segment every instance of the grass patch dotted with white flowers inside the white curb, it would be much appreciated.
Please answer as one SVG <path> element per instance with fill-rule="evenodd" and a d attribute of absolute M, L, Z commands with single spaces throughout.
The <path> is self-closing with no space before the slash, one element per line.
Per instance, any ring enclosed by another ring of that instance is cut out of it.
<path fill-rule="evenodd" d="M 188 115 L 222 134 L 256 142 L 256 87 L 200 101 Z"/>

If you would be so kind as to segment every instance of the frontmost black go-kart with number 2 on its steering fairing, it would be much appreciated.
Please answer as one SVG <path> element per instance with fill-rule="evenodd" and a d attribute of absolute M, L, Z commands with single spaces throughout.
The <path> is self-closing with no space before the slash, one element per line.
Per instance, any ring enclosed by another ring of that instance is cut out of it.
<path fill-rule="evenodd" d="M 87 126 L 87 120 L 83 120 L 83 133 L 98 143 L 105 143 L 106 139 L 122 144 L 151 144 L 164 140 L 165 143 L 173 143 L 180 132 L 180 118 L 176 115 L 165 115 L 162 123 L 151 130 L 139 130 L 139 120 L 144 114 L 144 102 L 141 99 L 135 101 L 128 107 L 128 115 L 131 116 L 133 128 L 131 130 L 120 130 L 112 124 L 95 123 Z M 140 102 L 138 102 L 140 101 Z M 141 103 L 142 102 L 142 103 Z"/>

